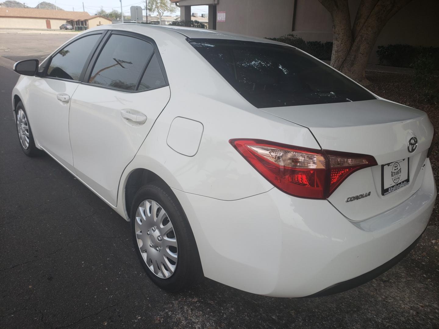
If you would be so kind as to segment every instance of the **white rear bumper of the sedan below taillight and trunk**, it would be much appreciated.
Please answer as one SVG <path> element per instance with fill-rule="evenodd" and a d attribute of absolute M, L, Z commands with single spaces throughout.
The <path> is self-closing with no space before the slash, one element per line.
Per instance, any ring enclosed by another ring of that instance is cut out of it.
<path fill-rule="evenodd" d="M 429 159 L 423 170 L 421 188 L 409 199 L 361 222 L 349 221 L 327 200 L 276 188 L 234 201 L 173 191 L 206 277 L 251 293 L 306 297 L 336 292 L 337 285 L 350 289 L 355 278 L 364 283 L 374 277 L 368 272 L 402 258 L 425 230 L 436 198 Z"/>

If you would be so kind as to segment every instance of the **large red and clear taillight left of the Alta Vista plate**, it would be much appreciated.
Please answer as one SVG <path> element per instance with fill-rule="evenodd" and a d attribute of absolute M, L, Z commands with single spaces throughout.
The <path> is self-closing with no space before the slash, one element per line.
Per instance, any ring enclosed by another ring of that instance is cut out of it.
<path fill-rule="evenodd" d="M 269 142 L 230 139 L 230 144 L 280 190 L 313 199 L 325 199 L 353 172 L 377 164 L 374 157 Z"/>

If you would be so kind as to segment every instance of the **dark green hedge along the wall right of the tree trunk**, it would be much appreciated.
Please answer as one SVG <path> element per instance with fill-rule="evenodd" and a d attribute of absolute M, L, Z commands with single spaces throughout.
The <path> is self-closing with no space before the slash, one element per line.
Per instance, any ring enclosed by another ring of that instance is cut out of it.
<path fill-rule="evenodd" d="M 439 69 L 439 48 L 415 47 L 410 45 L 387 45 L 378 46 L 379 64 L 411 68 L 421 58 L 432 58 L 433 70 Z"/>

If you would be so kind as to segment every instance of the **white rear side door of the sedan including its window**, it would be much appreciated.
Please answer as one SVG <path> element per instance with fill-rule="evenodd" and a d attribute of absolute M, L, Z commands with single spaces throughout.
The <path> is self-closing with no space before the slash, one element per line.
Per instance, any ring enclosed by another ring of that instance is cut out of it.
<path fill-rule="evenodd" d="M 69 131 L 76 174 L 113 206 L 124 168 L 169 97 L 154 41 L 109 34 L 72 97 Z"/>

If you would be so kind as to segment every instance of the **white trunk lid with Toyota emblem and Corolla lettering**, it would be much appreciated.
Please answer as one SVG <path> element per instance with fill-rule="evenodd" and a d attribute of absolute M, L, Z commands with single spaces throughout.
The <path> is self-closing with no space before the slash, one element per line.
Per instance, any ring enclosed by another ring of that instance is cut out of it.
<path fill-rule="evenodd" d="M 378 99 L 262 110 L 307 127 L 324 150 L 376 159 L 377 166 L 354 172 L 328 198 L 351 220 L 387 211 L 421 186 L 421 168 L 433 137 L 432 124 L 423 111 Z M 417 138 L 417 147 L 409 152 L 412 137 Z M 386 164 L 390 165 L 382 166 Z M 389 183 L 389 179 L 394 181 Z"/>

